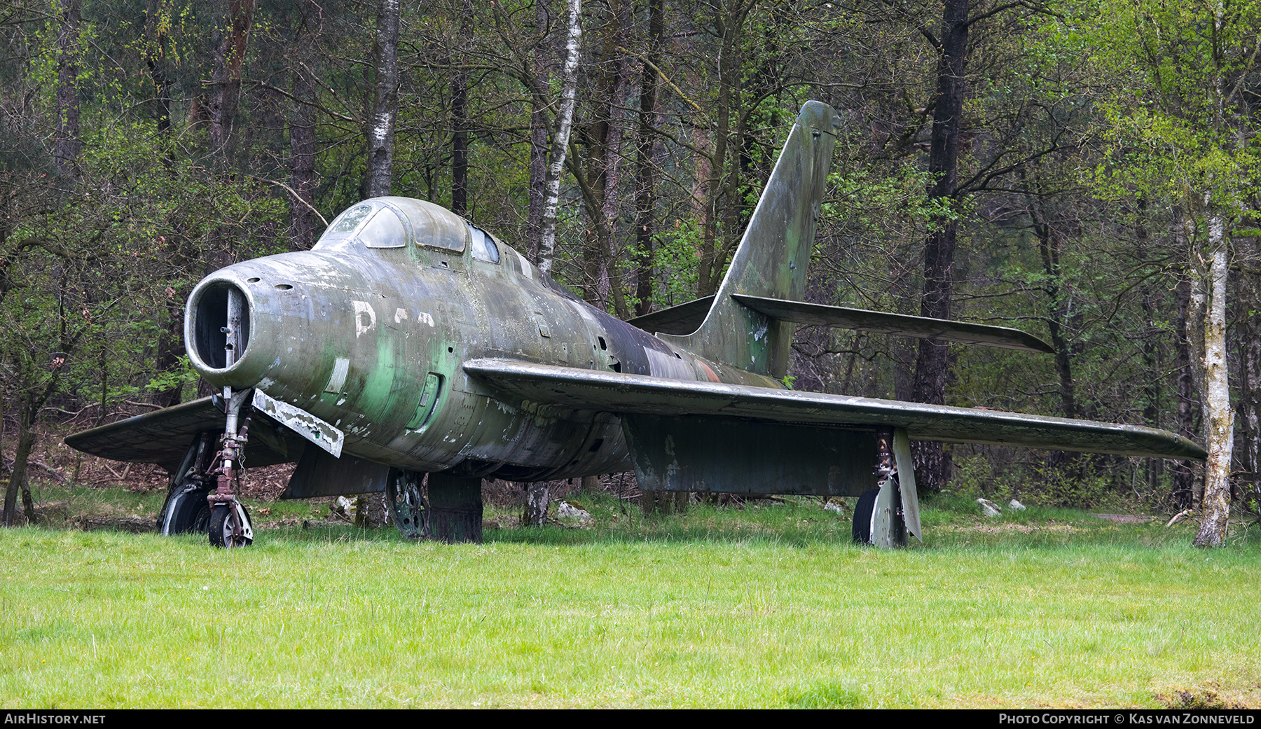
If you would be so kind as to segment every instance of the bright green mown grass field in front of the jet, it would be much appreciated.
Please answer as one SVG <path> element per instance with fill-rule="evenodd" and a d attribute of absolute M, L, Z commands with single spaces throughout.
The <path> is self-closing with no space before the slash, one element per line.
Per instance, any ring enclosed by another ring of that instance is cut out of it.
<path fill-rule="evenodd" d="M 811 499 L 651 520 L 581 501 L 594 527 L 483 545 L 0 530 L 0 704 L 1261 703 L 1255 527 L 1202 551 L 1189 528 L 938 498 L 927 544 L 876 551 Z"/>

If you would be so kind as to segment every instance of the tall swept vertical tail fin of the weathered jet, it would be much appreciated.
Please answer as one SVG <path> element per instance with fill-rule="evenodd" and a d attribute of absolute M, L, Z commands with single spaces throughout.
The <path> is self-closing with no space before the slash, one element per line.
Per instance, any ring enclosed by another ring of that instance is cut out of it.
<path fill-rule="evenodd" d="M 810 101 L 801 108 L 705 323 L 681 337 L 658 334 L 662 339 L 724 364 L 783 377 L 793 324 L 754 312 L 731 294 L 803 296 L 839 127 L 831 106 Z"/>

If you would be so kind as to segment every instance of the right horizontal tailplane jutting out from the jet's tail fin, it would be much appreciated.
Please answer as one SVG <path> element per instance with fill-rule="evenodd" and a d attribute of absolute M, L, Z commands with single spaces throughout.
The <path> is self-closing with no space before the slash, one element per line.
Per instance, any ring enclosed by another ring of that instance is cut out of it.
<path fill-rule="evenodd" d="M 950 342 L 1002 347 L 1005 349 L 1052 353 L 1055 351 L 1050 344 L 1033 334 L 1008 327 L 990 327 L 987 324 L 951 322 L 948 319 L 931 319 L 928 317 L 910 317 L 907 314 L 886 314 L 866 309 L 786 301 L 783 299 L 765 299 L 762 296 L 745 296 L 743 294 L 731 294 L 731 298 L 754 312 L 781 322 L 822 324 L 826 327 L 854 329 L 856 332 L 900 334 L 903 337 L 919 337 L 922 339 L 947 339 Z M 683 305 L 686 306 L 687 304 Z M 666 312 L 668 310 L 666 309 Z"/>

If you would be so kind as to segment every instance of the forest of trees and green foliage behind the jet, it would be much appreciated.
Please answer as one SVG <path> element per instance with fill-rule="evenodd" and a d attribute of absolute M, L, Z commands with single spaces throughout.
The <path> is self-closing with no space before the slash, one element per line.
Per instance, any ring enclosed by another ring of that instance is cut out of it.
<path fill-rule="evenodd" d="M 194 397 L 206 274 L 371 195 L 448 207 L 630 318 L 712 294 L 801 105 L 842 116 L 791 386 L 1141 424 L 1207 467 L 921 445 L 928 489 L 1202 510 L 1261 472 L 1261 3 L 3 0 L 4 520 L 40 424 Z"/>

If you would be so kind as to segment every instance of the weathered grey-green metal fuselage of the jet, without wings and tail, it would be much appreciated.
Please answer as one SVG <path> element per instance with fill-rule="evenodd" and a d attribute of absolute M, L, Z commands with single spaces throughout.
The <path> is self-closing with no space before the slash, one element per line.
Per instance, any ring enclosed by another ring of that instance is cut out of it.
<path fill-rule="evenodd" d="M 353 457 L 516 481 L 628 469 L 622 424 L 607 412 L 504 400 L 462 362 L 511 357 L 781 387 L 594 309 L 498 241 L 498 261 L 475 257 L 484 252 L 473 245 L 480 231 L 443 208 L 404 198 L 362 204 L 420 217 L 427 225 L 410 228 L 427 237 L 410 232 L 404 246 L 380 248 L 325 236 L 313 251 L 208 276 L 185 317 L 189 356 L 207 381 L 257 387 L 306 410 L 340 429 Z M 237 361 L 223 366 L 219 304 L 230 288 L 243 294 L 248 333 Z"/>

